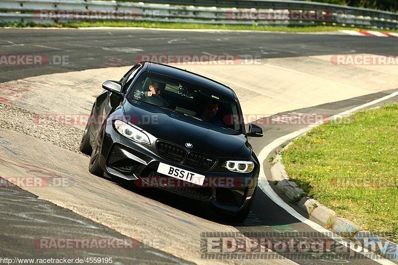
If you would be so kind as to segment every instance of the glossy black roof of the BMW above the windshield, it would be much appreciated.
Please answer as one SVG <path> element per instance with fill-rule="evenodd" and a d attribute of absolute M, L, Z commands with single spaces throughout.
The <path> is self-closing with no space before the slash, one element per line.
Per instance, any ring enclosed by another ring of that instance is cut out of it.
<path fill-rule="evenodd" d="M 145 64 L 148 66 L 146 68 L 146 71 L 148 71 L 148 72 L 160 73 L 160 74 L 176 77 L 176 78 L 179 78 L 184 81 L 188 81 L 188 82 L 198 84 L 200 86 L 204 86 L 204 87 L 212 89 L 220 94 L 223 94 L 230 98 L 236 99 L 236 95 L 230 87 L 228 87 L 224 84 L 221 84 L 217 81 L 214 81 L 210 78 L 207 78 L 205 76 L 199 75 L 197 73 L 190 72 L 185 69 L 180 69 L 180 68 L 173 67 L 173 66 L 154 63 L 154 62 L 146 62 L 145 61 L 145 62 L 141 62 L 141 64 Z"/>

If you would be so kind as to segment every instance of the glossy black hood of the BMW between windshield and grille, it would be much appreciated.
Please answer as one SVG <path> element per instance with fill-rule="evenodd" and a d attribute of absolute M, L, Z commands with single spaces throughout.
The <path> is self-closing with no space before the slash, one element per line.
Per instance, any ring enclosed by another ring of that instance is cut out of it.
<path fill-rule="evenodd" d="M 123 108 L 129 123 L 158 139 L 180 146 L 190 142 L 193 147 L 186 149 L 216 157 L 241 159 L 251 157 L 252 149 L 243 133 L 144 102 L 134 101 L 132 105 L 125 101 Z"/>

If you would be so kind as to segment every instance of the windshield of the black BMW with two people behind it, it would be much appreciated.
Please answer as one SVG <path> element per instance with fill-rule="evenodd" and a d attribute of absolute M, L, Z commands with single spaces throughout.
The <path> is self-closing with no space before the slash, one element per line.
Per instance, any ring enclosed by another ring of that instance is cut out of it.
<path fill-rule="evenodd" d="M 242 115 L 236 101 L 195 83 L 146 72 L 140 76 L 127 98 L 130 102 L 146 102 L 242 132 Z"/>

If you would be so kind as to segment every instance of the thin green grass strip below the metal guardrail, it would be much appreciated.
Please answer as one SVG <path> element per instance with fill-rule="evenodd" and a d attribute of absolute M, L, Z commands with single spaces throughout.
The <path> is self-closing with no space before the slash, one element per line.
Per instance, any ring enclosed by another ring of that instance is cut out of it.
<path fill-rule="evenodd" d="M 358 30 L 351 27 L 340 26 L 265 26 L 265 25 L 216 25 L 198 23 L 166 23 L 149 21 L 95 21 L 95 22 L 67 22 L 56 24 L 36 24 L 33 22 L 0 22 L 0 27 L 58 27 L 58 28 L 78 28 L 78 27 L 144 27 L 144 28 L 166 28 L 166 29 L 229 29 L 229 30 L 257 30 L 257 31 L 286 31 L 286 32 L 327 32 L 339 31 L 343 29 Z M 374 29 L 376 30 L 376 29 Z M 376 30 L 377 31 L 377 30 Z M 386 31 L 386 30 L 385 30 Z M 390 32 L 398 32 L 388 30 Z"/>

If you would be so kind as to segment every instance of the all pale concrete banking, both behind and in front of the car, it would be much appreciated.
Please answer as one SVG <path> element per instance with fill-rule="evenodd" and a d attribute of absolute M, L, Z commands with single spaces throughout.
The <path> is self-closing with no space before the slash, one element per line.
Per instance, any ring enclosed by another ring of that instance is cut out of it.
<path fill-rule="evenodd" d="M 304 63 L 300 68 L 295 68 L 299 62 Z M 398 87 L 397 66 L 385 66 L 389 67 L 385 73 L 380 67 L 374 70 L 362 66 L 334 66 L 327 56 L 266 59 L 263 65 L 253 66 L 178 67 L 229 85 L 237 93 L 243 113 L 258 116 L 269 116 Z M 396 71 L 390 67 L 395 67 Z M 24 115 L 22 110 L 33 114 L 89 115 L 95 97 L 103 91 L 102 82 L 105 79 L 118 80 L 129 68 L 123 66 L 90 69 L 1 83 L 1 113 L 6 113 L 5 109 L 10 107 L 17 112 L 12 116 L 14 119 Z M 361 81 L 359 77 L 365 79 Z M 13 93 L 7 94 L 7 91 Z M 36 134 L 29 136 L 25 135 L 28 133 L 19 133 L 17 124 L 11 124 L 9 117 L 0 117 L 3 128 L 0 130 L 1 140 L 10 143 L 6 146 L 8 149 L 0 149 L 1 176 L 35 176 L 39 170 L 41 173 L 44 171 L 61 176 L 73 184 L 70 187 L 24 188 L 40 199 L 71 209 L 138 241 L 160 239 L 165 244 L 158 249 L 199 264 L 206 263 L 206 260 L 201 260 L 199 256 L 200 235 L 197 231 L 239 232 L 232 226 L 213 222 L 211 217 L 198 213 L 199 210 L 192 208 L 199 206 L 193 202 L 191 204 L 190 200 L 181 207 L 167 205 L 164 201 L 157 200 L 156 196 L 152 197 L 150 192 L 131 192 L 108 179 L 91 175 L 87 170 L 87 156 L 65 150 L 68 149 L 65 147 L 54 146 L 56 141 L 49 142 L 47 136 L 43 137 L 46 134 L 40 132 L 45 132 L 47 126 L 34 125 Z M 83 133 L 85 124 L 71 125 Z M 55 126 L 54 130 L 56 133 L 62 127 Z M 32 168 L 29 169 L 29 166 L 22 163 L 31 164 Z M 27 172 L 28 169 L 31 170 L 30 173 Z M 233 262 L 247 263 L 248 260 Z M 277 259 L 272 262 L 251 262 L 293 264 L 288 260 Z"/>

